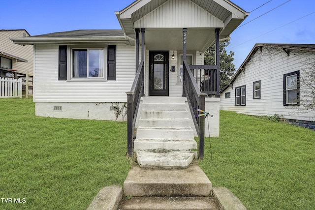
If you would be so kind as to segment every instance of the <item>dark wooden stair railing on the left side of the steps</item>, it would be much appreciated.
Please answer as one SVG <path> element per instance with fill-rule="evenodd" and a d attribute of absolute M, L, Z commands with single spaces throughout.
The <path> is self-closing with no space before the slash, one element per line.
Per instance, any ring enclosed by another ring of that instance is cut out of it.
<path fill-rule="evenodd" d="M 141 60 L 131 90 L 127 94 L 127 147 L 128 155 L 132 156 L 133 131 L 137 119 L 140 99 L 144 90 L 144 61 Z"/>

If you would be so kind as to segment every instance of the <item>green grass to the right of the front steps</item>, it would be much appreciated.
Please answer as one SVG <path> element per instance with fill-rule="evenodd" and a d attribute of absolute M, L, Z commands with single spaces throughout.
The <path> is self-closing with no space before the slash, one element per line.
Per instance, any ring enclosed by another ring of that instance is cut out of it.
<path fill-rule="evenodd" d="M 199 162 L 248 210 L 315 209 L 315 131 L 221 111 L 220 137 Z M 207 131 L 207 129 L 206 129 Z"/>

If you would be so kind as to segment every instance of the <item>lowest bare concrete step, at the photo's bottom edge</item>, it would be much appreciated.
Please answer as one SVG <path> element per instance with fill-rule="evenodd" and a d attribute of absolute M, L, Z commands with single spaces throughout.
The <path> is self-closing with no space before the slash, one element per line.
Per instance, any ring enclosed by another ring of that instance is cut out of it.
<path fill-rule="evenodd" d="M 219 210 L 213 197 L 132 197 L 120 210 Z"/>

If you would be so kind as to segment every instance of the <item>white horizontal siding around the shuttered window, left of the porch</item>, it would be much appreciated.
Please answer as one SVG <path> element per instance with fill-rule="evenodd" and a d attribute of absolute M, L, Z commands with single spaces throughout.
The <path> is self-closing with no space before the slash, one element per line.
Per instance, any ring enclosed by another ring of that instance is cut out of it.
<path fill-rule="evenodd" d="M 59 81 L 58 46 L 35 46 L 34 55 L 35 102 L 126 102 L 135 76 L 134 47 L 117 45 L 115 81 Z"/>

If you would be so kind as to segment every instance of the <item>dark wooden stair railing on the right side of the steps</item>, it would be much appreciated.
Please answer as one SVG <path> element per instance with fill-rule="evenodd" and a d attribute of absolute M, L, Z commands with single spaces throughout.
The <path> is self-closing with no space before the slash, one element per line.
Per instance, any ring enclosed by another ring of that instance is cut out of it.
<path fill-rule="evenodd" d="M 183 68 L 184 68 L 183 87 L 185 90 L 185 95 L 188 100 L 192 120 L 194 122 L 196 131 L 199 137 L 198 156 L 199 156 L 199 159 L 203 159 L 204 138 L 205 138 L 205 118 L 196 117 L 196 115 L 200 114 L 198 113 L 196 109 L 199 109 L 199 110 L 205 109 L 205 97 L 207 96 L 207 94 L 202 93 L 200 89 L 198 88 L 195 78 L 186 60 L 184 60 L 183 62 Z"/>

